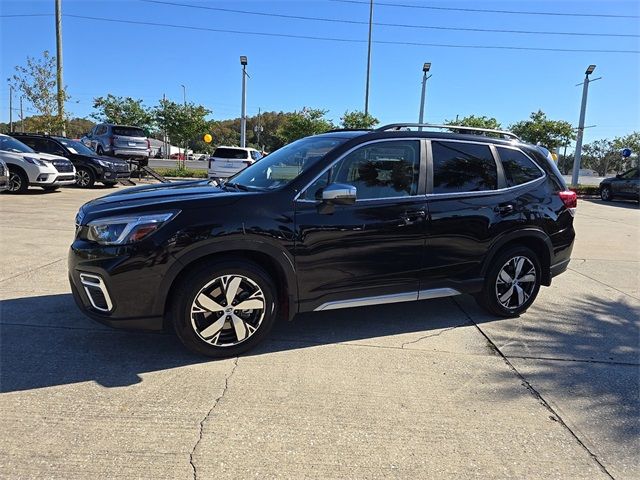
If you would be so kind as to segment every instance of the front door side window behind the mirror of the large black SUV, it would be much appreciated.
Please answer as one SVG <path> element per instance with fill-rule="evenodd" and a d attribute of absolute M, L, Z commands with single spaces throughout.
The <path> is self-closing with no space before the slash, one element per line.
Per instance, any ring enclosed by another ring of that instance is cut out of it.
<path fill-rule="evenodd" d="M 337 162 L 306 189 L 302 198 L 319 200 L 329 183 L 356 187 L 358 200 L 416 195 L 420 142 L 399 140 L 361 147 Z"/>

